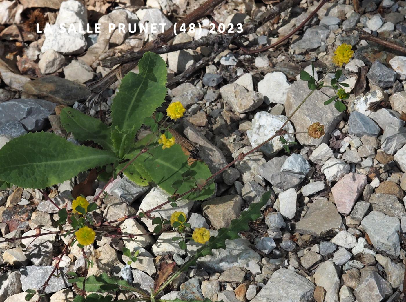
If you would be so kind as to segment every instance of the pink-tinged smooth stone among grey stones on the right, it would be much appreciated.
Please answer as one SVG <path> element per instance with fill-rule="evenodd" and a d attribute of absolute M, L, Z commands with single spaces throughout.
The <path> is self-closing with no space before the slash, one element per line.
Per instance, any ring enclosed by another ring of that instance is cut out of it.
<path fill-rule="evenodd" d="M 349 173 L 337 181 L 331 189 L 337 210 L 343 215 L 350 214 L 366 185 L 366 175 L 358 173 Z"/>

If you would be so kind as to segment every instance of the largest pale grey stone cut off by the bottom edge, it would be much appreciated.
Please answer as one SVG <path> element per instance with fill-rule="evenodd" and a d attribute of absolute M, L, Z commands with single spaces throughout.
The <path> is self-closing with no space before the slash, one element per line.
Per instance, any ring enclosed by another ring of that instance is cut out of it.
<path fill-rule="evenodd" d="M 251 302 L 311 301 L 315 286 L 291 270 L 280 268 Z"/>

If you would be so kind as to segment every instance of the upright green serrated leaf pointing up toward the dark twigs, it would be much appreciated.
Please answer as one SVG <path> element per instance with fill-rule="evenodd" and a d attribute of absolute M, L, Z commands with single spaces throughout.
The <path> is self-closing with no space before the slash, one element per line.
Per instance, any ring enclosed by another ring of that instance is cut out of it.
<path fill-rule="evenodd" d="M 121 80 L 111 106 L 112 128 L 138 131 L 144 119 L 162 105 L 166 96 L 166 63 L 158 54 L 146 52 L 138 63 L 139 74 L 129 72 Z"/>

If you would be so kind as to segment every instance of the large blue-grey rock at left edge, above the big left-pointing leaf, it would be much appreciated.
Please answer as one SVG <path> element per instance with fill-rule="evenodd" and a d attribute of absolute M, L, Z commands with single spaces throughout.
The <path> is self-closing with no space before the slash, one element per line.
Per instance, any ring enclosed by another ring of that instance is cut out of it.
<path fill-rule="evenodd" d="M 28 131 L 39 131 L 48 115 L 55 112 L 56 104 L 43 99 L 11 99 L 0 104 L 0 120 L 18 121 Z"/>

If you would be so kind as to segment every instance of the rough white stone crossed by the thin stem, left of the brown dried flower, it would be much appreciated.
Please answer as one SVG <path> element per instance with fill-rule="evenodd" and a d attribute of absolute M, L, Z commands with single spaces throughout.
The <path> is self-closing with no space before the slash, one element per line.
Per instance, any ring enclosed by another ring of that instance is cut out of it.
<path fill-rule="evenodd" d="M 266 111 L 260 111 L 255 114 L 252 120 L 252 127 L 247 131 L 248 140 L 251 142 L 253 147 L 257 147 L 262 144 L 270 136 L 272 136 L 279 128 L 287 121 L 287 117 L 284 115 L 272 115 Z M 287 133 L 294 132 L 293 126 L 290 121 L 283 128 Z M 296 131 L 298 131 L 296 129 Z M 292 142 L 295 140 L 293 134 L 283 135 L 286 141 Z M 282 143 L 279 137 L 273 138 L 270 142 L 266 143 L 259 148 L 260 151 L 266 155 L 274 155 L 274 153 L 282 150 Z"/>

